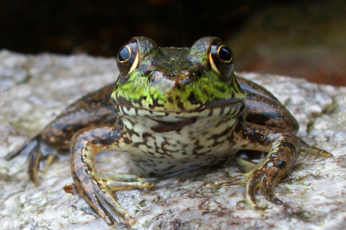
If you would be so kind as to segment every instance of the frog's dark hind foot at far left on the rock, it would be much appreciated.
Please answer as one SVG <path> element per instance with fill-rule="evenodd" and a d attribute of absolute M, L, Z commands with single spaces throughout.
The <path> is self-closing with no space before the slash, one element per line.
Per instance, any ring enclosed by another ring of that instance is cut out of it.
<path fill-rule="evenodd" d="M 44 142 L 40 139 L 40 135 L 36 135 L 5 157 L 6 160 L 12 160 L 13 158 L 17 157 L 17 155 L 28 155 L 28 176 L 29 180 L 34 184 L 37 184 L 37 171 L 39 170 L 39 162 L 43 162 L 46 160 L 46 166 L 44 168 L 44 171 L 46 171 L 48 166 L 50 166 L 57 157 L 55 154 L 53 154 L 53 150 L 46 144 L 44 144 Z"/>

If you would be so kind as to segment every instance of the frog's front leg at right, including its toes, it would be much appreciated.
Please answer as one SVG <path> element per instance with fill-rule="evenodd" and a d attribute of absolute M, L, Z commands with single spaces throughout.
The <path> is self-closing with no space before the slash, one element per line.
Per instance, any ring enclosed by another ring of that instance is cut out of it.
<path fill-rule="evenodd" d="M 280 182 L 293 169 L 301 151 L 302 142 L 295 134 L 281 128 L 268 128 L 248 122 L 239 122 L 229 137 L 231 146 L 241 146 L 246 150 L 264 151 L 268 155 L 262 162 L 255 164 L 237 159 L 246 171 L 244 178 L 232 178 L 208 184 L 208 186 L 246 184 L 246 203 L 255 210 L 261 210 L 255 200 L 255 191 L 264 192 L 266 199 L 275 203 L 282 202 L 273 195 L 273 186 Z"/>

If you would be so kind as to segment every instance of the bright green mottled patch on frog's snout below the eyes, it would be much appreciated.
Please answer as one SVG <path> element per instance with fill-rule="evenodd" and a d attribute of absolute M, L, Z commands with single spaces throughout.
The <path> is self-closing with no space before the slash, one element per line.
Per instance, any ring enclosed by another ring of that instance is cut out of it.
<path fill-rule="evenodd" d="M 122 97 L 127 102 L 122 106 L 175 113 L 189 113 L 209 106 L 218 106 L 218 102 L 221 101 L 222 106 L 226 106 L 227 102 L 231 104 L 244 99 L 235 80 L 224 82 L 211 72 L 206 72 L 195 81 L 182 85 L 177 85 L 172 79 L 167 78 L 161 79 L 160 82 L 152 82 L 147 76 L 135 73 L 127 82 L 118 82 L 112 93 L 115 102 L 118 101 L 117 97 Z"/>

